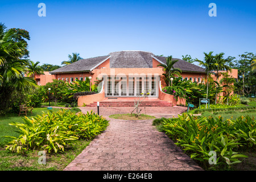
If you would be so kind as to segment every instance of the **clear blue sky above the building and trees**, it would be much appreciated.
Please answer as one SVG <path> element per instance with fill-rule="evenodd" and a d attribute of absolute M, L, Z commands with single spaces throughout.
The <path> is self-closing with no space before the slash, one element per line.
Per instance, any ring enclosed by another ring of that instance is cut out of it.
<path fill-rule="evenodd" d="M 46 17 L 38 16 L 39 3 Z M 216 3 L 217 16 L 208 7 Z M 0 22 L 30 32 L 30 59 L 40 64 L 122 50 L 203 60 L 256 53 L 256 1 L 2 1 Z"/>

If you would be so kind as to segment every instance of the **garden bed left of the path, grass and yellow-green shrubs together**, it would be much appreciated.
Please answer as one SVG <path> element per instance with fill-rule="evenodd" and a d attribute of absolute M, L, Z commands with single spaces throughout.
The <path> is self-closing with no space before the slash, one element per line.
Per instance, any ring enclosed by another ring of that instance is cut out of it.
<path fill-rule="evenodd" d="M 35 108 L 27 118 L 13 114 L 1 117 L 0 130 L 4 132 L 0 137 L 7 135 L 15 139 L 0 138 L 0 170 L 63 170 L 108 126 L 105 118 L 79 111 L 78 108 L 50 111 Z M 15 122 L 14 126 L 9 125 L 11 122 Z M 46 151 L 45 165 L 38 163 L 39 151 Z"/>

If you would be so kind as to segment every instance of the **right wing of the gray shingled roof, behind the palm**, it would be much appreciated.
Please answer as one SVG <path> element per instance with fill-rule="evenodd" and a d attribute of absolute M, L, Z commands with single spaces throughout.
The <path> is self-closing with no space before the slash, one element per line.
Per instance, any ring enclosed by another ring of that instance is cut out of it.
<path fill-rule="evenodd" d="M 159 61 L 161 61 L 162 63 L 166 64 L 167 57 L 163 57 L 163 56 L 154 56 L 154 57 Z M 180 68 L 181 71 L 183 72 L 204 72 L 205 73 L 204 68 L 199 67 L 195 64 L 188 63 L 187 61 L 177 59 L 177 58 L 173 58 L 173 60 L 179 60 L 174 64 L 174 68 Z"/>

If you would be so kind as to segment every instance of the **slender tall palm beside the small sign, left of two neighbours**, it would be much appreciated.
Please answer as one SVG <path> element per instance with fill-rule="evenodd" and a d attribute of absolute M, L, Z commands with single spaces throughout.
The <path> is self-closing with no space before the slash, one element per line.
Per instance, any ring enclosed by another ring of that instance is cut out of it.
<path fill-rule="evenodd" d="M 201 61 L 196 58 L 196 62 L 199 63 L 199 65 L 202 65 L 205 68 L 205 72 L 207 73 L 207 98 L 208 98 L 208 87 L 209 87 L 209 72 L 213 70 L 213 64 L 214 64 L 214 56 L 212 55 L 213 51 L 210 51 L 209 53 L 204 52 L 204 61 Z"/>

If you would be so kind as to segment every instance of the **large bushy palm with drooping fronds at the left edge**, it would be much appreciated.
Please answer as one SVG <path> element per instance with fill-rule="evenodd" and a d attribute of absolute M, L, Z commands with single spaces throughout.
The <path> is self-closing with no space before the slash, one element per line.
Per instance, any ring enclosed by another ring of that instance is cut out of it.
<path fill-rule="evenodd" d="M 26 92 L 36 88 L 36 81 L 24 77 L 27 60 L 21 60 L 26 48 L 24 42 L 15 42 L 14 31 L 6 31 L 6 26 L 0 23 L 0 110 L 9 107 L 11 94 Z"/>

